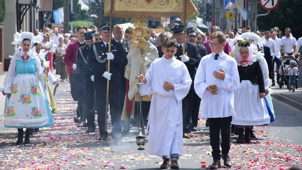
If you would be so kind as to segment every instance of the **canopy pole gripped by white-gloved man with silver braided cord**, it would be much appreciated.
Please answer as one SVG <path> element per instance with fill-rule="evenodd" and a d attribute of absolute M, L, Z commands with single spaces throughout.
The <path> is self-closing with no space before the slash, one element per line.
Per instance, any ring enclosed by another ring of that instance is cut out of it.
<path fill-rule="evenodd" d="M 111 53 L 111 34 L 112 34 L 112 7 L 113 0 L 110 2 L 110 24 L 109 24 L 109 49 L 108 53 Z M 110 60 L 108 60 L 107 72 L 110 73 Z M 108 118 L 108 99 L 109 99 L 109 80 L 107 80 L 107 93 L 106 93 L 106 114 L 105 114 L 105 131 L 107 131 L 107 118 Z"/>

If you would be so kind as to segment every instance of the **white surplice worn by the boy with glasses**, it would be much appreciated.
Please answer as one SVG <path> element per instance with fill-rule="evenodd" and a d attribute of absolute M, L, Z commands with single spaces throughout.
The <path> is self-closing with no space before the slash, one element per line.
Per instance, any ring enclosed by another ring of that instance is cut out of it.
<path fill-rule="evenodd" d="M 234 93 L 239 88 L 239 74 L 236 60 L 225 54 L 219 53 L 218 60 L 214 60 L 215 53 L 202 57 L 194 80 L 194 89 L 201 100 L 201 117 L 223 118 L 236 117 L 234 111 Z M 213 72 L 225 70 L 225 79 L 214 77 Z M 212 95 L 206 88 L 209 85 L 217 85 L 217 93 Z"/>

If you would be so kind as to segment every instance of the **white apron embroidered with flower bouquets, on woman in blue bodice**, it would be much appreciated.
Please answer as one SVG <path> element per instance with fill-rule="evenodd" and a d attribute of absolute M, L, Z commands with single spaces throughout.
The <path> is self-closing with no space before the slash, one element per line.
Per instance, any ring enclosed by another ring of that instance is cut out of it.
<path fill-rule="evenodd" d="M 49 122 L 43 86 L 34 74 L 18 74 L 5 108 L 5 127 L 43 127 Z M 52 118 L 51 118 L 52 119 Z M 52 122 L 53 124 L 53 122 Z"/>

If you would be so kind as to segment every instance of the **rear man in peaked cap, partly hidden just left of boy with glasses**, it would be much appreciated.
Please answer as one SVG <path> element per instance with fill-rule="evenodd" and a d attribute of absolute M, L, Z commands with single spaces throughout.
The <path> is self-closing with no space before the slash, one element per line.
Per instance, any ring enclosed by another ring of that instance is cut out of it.
<path fill-rule="evenodd" d="M 198 31 L 195 30 L 193 27 L 187 29 L 187 37 L 188 41 L 190 43 L 193 43 L 196 45 L 198 53 L 201 57 L 207 55 L 206 48 L 203 46 L 199 46 L 196 44 L 197 37 L 198 37 Z M 194 83 L 193 83 L 194 84 Z M 193 103 L 192 103 L 192 110 L 191 110 L 191 119 L 192 122 L 190 122 L 189 130 L 190 131 L 197 131 L 197 123 L 198 123 L 198 114 L 199 114 L 199 106 L 200 106 L 201 99 L 199 96 L 195 93 L 195 90 L 193 91 Z"/>

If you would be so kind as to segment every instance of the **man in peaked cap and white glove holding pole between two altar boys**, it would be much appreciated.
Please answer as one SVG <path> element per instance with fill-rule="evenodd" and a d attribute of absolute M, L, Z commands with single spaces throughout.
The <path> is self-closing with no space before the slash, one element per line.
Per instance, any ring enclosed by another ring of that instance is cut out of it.
<path fill-rule="evenodd" d="M 191 79 L 194 82 L 195 67 L 197 68 L 201 59 L 200 54 L 197 51 L 197 47 L 193 43 L 185 43 L 185 53 L 183 54 L 183 25 L 176 25 L 173 29 L 174 37 L 177 41 L 176 58 L 181 60 L 188 68 Z M 194 83 L 193 83 L 194 84 Z M 191 85 L 190 91 L 183 99 L 183 138 L 190 138 L 187 135 L 189 132 L 189 125 L 191 121 L 191 110 L 193 104 L 193 92 L 194 86 Z"/>

